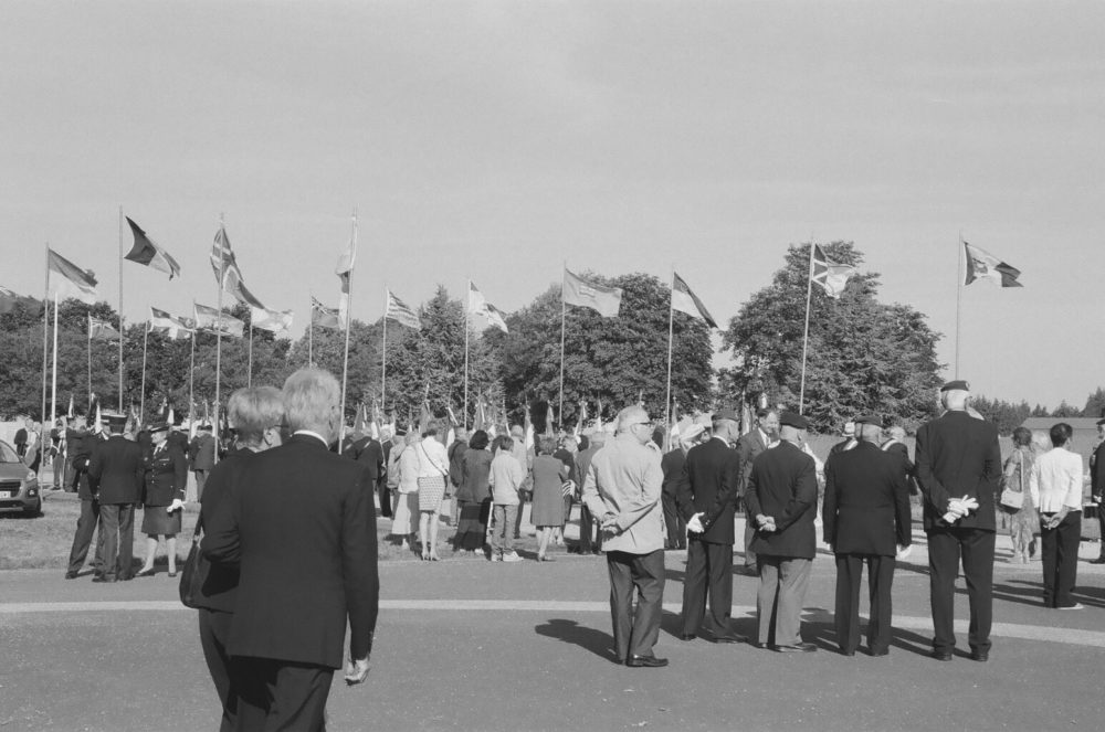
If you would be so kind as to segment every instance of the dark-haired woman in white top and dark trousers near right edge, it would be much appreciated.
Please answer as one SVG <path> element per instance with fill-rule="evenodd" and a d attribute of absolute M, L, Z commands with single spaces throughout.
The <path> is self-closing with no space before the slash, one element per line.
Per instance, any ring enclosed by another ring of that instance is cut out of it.
<path fill-rule="evenodd" d="M 1054 448 L 1036 458 L 1029 477 L 1032 503 L 1040 511 L 1043 604 L 1059 609 L 1082 609 L 1071 596 L 1082 539 L 1082 457 L 1066 448 L 1071 434 L 1065 422 L 1051 428 Z"/>

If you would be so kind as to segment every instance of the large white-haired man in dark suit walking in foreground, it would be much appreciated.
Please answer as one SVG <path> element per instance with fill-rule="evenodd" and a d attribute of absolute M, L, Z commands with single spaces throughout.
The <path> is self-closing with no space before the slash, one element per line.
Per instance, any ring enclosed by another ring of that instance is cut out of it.
<path fill-rule="evenodd" d="M 334 669 L 364 680 L 379 606 L 372 479 L 329 452 L 341 388 L 319 369 L 284 382 L 293 436 L 252 456 L 212 511 L 203 553 L 238 566 L 228 653 L 234 657 L 240 729 L 322 730 Z"/>

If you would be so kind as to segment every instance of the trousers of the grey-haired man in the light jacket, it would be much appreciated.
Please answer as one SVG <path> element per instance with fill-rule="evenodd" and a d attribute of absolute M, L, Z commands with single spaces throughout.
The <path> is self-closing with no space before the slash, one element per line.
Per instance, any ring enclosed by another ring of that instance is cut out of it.
<path fill-rule="evenodd" d="M 648 554 L 607 552 L 610 571 L 610 617 L 618 658 L 652 656 L 660 637 L 664 603 L 664 550 Z M 633 588 L 636 612 L 633 612 Z"/>

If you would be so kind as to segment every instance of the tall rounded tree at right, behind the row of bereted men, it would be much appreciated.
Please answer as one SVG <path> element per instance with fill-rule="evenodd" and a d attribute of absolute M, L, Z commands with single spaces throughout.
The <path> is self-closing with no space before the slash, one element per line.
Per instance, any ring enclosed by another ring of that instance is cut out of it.
<path fill-rule="evenodd" d="M 737 365 L 723 388 L 730 399 L 755 402 L 766 394 L 772 404 L 798 409 L 811 245 L 791 245 L 771 284 L 729 321 L 723 348 Z M 851 242 L 822 250 L 842 264 L 863 262 Z M 803 412 L 818 429 L 833 431 L 864 412 L 912 427 L 936 412 L 940 335 L 912 307 L 880 303 L 877 288 L 877 273 L 860 272 L 838 300 L 812 288 Z"/>

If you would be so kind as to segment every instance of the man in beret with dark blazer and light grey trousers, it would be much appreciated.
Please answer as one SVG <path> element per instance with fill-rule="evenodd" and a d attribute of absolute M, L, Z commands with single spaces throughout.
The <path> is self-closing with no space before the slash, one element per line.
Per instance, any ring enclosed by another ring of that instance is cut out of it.
<path fill-rule="evenodd" d="M 802 450 L 809 428 L 806 417 L 785 412 L 779 424 L 780 443 L 753 463 L 745 496 L 756 521 L 753 551 L 760 573 L 757 645 L 781 653 L 809 653 L 818 647 L 802 643 L 801 614 L 817 554 L 817 466 Z"/>

